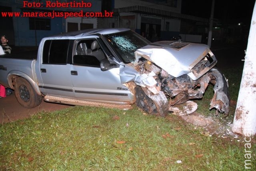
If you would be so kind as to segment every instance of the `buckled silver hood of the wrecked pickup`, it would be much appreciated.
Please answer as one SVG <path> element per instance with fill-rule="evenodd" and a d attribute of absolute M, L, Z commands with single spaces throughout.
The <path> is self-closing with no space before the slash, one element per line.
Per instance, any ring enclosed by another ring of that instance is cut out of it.
<path fill-rule="evenodd" d="M 190 70 L 209 51 L 209 47 L 205 44 L 160 41 L 136 50 L 135 56 L 136 59 L 143 57 L 164 69 L 168 74 L 179 77 L 190 73 Z"/>

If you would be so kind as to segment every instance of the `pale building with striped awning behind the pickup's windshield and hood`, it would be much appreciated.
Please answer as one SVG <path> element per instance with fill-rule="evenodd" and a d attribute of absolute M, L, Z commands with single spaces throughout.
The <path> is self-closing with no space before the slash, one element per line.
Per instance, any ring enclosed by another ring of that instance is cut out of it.
<path fill-rule="evenodd" d="M 104 0 L 102 0 L 104 2 Z M 98 28 L 130 28 L 138 34 L 145 34 L 152 42 L 157 40 L 175 40 L 182 34 L 182 40 L 201 42 L 202 30 L 209 19 L 181 14 L 182 0 L 109 0 L 114 7 L 113 18 L 99 18 Z M 186 31 L 192 26 L 200 35 Z M 205 30 L 205 29 L 204 29 Z M 204 31 L 203 30 L 203 31 Z"/>

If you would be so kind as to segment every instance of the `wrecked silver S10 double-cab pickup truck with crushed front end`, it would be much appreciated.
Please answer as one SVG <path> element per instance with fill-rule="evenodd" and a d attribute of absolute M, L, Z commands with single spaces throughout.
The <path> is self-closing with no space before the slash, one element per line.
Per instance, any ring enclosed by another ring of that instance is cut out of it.
<path fill-rule="evenodd" d="M 42 101 L 129 109 L 166 116 L 170 108 L 200 99 L 214 84 L 210 109 L 228 113 L 228 83 L 213 68 L 216 58 L 203 44 L 151 43 L 130 29 L 91 29 L 43 38 L 37 56 L 0 56 L 0 84 L 18 102 Z"/>

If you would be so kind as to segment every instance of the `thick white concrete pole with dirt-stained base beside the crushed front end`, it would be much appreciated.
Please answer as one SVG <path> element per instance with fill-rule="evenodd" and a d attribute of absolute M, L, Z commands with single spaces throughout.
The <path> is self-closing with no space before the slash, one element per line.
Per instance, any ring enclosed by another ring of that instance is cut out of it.
<path fill-rule="evenodd" d="M 244 70 L 232 131 L 245 136 L 256 134 L 256 6 L 244 61 Z"/>

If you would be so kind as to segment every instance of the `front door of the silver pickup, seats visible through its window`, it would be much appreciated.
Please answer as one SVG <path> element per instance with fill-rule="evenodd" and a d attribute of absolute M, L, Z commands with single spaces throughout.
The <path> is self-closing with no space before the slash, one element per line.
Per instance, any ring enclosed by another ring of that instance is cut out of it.
<path fill-rule="evenodd" d="M 83 44 L 80 46 L 80 44 Z M 130 91 L 121 84 L 119 68 L 108 71 L 100 70 L 100 61 L 106 59 L 110 52 L 106 52 L 102 42 L 97 39 L 77 40 L 72 60 L 71 76 L 77 99 L 89 101 L 123 103 L 128 100 Z M 80 50 L 84 47 L 84 50 Z M 84 54 L 80 54 L 84 52 Z M 119 88 L 118 88 L 119 87 Z M 130 97 L 130 96 L 129 96 Z"/>

